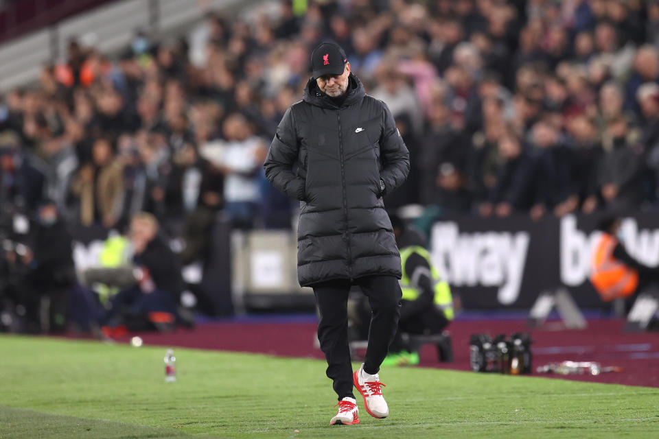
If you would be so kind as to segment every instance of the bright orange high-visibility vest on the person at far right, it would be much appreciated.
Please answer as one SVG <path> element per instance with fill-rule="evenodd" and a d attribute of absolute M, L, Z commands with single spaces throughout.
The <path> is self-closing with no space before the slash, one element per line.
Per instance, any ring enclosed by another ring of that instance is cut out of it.
<path fill-rule="evenodd" d="M 603 233 L 590 259 L 590 282 L 602 300 L 628 297 L 638 287 L 638 272 L 613 257 L 618 239 Z"/>

